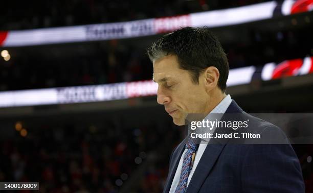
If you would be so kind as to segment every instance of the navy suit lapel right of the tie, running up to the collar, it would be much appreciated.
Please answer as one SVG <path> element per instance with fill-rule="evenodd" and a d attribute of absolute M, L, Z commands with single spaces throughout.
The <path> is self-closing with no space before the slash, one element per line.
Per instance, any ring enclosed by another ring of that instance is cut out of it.
<path fill-rule="evenodd" d="M 242 109 L 236 104 L 233 100 L 225 113 L 241 113 Z M 222 119 L 222 118 L 221 118 Z M 231 129 L 221 129 L 221 131 L 229 132 Z M 215 139 L 211 139 L 206 150 L 204 151 L 196 170 L 193 173 L 193 176 L 190 180 L 190 183 L 187 187 L 187 193 L 195 193 L 198 192 L 205 179 L 208 177 L 210 171 L 219 155 L 221 154 L 223 148 L 226 143 L 229 141 L 228 139 L 218 141 Z M 176 166 L 177 167 L 177 166 Z"/>

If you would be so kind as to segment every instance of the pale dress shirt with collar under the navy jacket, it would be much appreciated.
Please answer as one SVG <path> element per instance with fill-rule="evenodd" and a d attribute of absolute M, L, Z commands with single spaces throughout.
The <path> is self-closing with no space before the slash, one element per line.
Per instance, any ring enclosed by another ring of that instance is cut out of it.
<path fill-rule="evenodd" d="M 231 99 L 231 96 L 228 94 L 226 95 L 226 97 L 210 112 L 210 113 L 225 113 L 227 108 L 229 107 L 229 105 L 232 103 L 232 99 Z M 198 147 L 198 150 L 196 152 L 196 155 L 195 155 L 195 158 L 194 158 L 194 162 L 193 162 L 193 166 L 192 166 L 192 169 L 191 169 L 191 172 L 189 174 L 189 177 L 188 177 L 188 182 L 187 182 L 187 187 L 188 187 L 188 184 L 192 178 L 192 175 L 204 153 L 204 151 L 206 150 L 207 148 L 207 145 L 208 145 L 208 139 L 206 139 L 207 142 L 201 142 L 199 144 L 199 147 Z M 175 189 L 178 185 L 178 182 L 180 181 L 180 177 L 181 177 L 181 172 L 182 172 L 182 166 L 183 166 L 183 161 L 184 161 L 184 155 L 185 153 L 187 152 L 187 148 L 185 149 L 185 151 L 183 152 L 182 156 L 181 156 L 181 159 L 180 159 L 180 163 L 178 163 L 178 166 L 177 166 L 177 170 L 176 170 L 176 173 L 175 173 L 175 176 L 173 178 L 173 182 L 172 182 L 172 185 L 171 185 L 171 189 L 170 189 L 170 193 L 174 193 L 175 192 Z"/>

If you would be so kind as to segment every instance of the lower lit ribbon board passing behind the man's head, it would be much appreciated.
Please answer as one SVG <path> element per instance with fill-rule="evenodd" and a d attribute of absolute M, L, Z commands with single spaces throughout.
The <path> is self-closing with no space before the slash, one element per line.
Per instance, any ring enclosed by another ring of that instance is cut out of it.
<path fill-rule="evenodd" d="M 227 86 L 249 84 L 253 76 L 260 81 L 267 81 L 310 74 L 313 73 L 312 61 L 313 57 L 306 57 L 283 61 L 279 64 L 268 63 L 263 66 L 259 77 L 254 76 L 255 66 L 231 69 Z M 157 90 L 158 84 L 152 80 L 147 80 L 91 86 L 3 91 L 0 92 L 0 108 L 113 101 L 156 95 Z"/>

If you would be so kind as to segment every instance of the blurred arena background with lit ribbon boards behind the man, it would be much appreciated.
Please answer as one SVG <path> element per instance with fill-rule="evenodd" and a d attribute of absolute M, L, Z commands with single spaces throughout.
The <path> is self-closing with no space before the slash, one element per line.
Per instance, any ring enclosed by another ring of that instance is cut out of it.
<path fill-rule="evenodd" d="M 184 135 L 156 102 L 146 49 L 180 27 L 218 37 L 227 93 L 246 112 L 313 109 L 312 1 L 6 1 L 0 10 L 0 182 L 161 192 Z M 294 149 L 313 192 L 313 146 Z"/>

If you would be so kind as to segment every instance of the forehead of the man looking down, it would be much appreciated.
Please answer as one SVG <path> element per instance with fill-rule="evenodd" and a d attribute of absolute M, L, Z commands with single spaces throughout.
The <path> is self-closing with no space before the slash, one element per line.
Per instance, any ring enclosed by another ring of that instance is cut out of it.
<path fill-rule="evenodd" d="M 177 56 L 169 55 L 153 62 L 153 80 L 163 82 L 188 76 L 188 71 L 179 68 Z"/>

